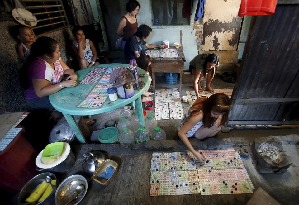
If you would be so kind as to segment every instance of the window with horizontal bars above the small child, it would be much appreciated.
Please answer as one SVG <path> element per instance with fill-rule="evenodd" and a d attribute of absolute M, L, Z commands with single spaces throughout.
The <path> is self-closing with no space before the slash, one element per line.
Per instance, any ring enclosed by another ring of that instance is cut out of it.
<path fill-rule="evenodd" d="M 39 21 L 32 27 L 35 35 L 69 27 L 61 0 L 22 0 L 22 2 Z"/>

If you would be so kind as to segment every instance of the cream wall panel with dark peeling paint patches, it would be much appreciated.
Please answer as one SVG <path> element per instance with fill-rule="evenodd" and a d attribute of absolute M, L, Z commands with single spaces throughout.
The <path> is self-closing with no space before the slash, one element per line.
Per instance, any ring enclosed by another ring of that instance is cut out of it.
<path fill-rule="evenodd" d="M 237 50 L 242 18 L 241 0 L 206 1 L 203 17 L 202 51 Z"/>

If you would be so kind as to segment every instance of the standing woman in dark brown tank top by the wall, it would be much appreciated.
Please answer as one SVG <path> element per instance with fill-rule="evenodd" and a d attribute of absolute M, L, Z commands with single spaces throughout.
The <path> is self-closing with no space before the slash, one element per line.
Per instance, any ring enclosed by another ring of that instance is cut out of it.
<path fill-rule="evenodd" d="M 126 4 L 127 13 L 119 21 L 117 34 L 122 37 L 122 47 L 125 48 L 126 41 L 130 36 L 136 33 L 138 23 L 136 15 L 140 9 L 140 4 L 136 0 L 129 0 Z"/>

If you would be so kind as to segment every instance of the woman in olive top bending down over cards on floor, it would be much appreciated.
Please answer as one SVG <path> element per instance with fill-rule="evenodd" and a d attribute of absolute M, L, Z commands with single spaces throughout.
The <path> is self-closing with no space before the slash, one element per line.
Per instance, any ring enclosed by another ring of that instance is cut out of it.
<path fill-rule="evenodd" d="M 214 89 L 211 88 L 211 82 L 214 78 L 216 69 L 219 66 L 219 57 L 215 53 L 212 54 L 199 54 L 190 61 L 189 71 L 194 74 L 193 86 L 196 93 L 196 97 L 199 97 L 199 92 L 202 93 L 202 87 L 200 82 L 203 77 L 206 77 L 206 90 L 210 93 L 214 93 Z"/>

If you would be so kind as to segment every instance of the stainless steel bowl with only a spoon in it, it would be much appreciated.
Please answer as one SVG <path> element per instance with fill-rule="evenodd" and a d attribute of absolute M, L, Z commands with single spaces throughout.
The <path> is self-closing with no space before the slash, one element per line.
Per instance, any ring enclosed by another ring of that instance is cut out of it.
<path fill-rule="evenodd" d="M 68 202 L 74 195 L 74 192 L 78 185 L 83 184 L 85 186 L 85 190 L 83 193 L 78 196 L 78 198 L 74 199 L 69 205 L 76 205 L 81 202 L 87 192 L 87 180 L 82 175 L 72 175 L 68 178 L 64 179 L 63 182 L 57 188 L 55 193 L 55 203 L 56 205 L 64 205 Z"/>

